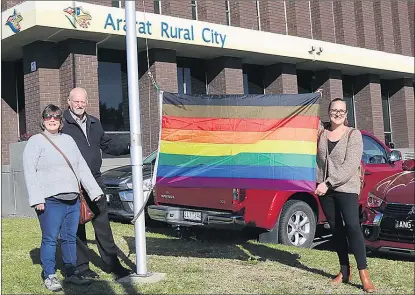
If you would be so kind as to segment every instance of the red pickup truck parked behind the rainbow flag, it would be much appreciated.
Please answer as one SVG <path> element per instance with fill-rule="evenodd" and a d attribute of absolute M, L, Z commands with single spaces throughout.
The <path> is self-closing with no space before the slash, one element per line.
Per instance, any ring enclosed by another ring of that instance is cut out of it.
<path fill-rule="evenodd" d="M 381 179 L 402 171 L 401 153 L 362 131 L 365 186 L 360 204 Z M 261 229 L 259 240 L 310 247 L 316 226 L 326 221 L 316 195 L 259 189 L 173 188 L 156 186 L 151 219 L 173 226 Z"/>

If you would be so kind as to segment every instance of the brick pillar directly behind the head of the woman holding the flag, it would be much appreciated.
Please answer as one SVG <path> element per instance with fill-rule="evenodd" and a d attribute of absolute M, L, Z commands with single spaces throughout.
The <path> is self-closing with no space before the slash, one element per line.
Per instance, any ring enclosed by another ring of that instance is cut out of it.
<path fill-rule="evenodd" d="M 342 73 L 339 70 L 323 70 L 315 73 L 315 88 L 323 89 L 320 100 L 320 116 L 323 121 L 329 121 L 327 113 L 330 101 L 343 97 Z"/>

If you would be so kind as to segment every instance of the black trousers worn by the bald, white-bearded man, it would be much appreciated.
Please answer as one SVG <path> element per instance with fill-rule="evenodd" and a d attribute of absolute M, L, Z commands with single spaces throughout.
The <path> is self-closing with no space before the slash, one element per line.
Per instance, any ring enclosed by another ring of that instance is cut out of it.
<path fill-rule="evenodd" d="M 101 181 L 97 180 L 98 184 L 103 187 Z M 91 221 L 95 231 L 95 240 L 97 242 L 98 251 L 101 255 L 101 259 L 104 262 L 104 271 L 112 272 L 116 270 L 121 264 L 117 258 L 117 246 L 114 242 L 112 234 L 108 210 L 107 200 L 102 197 L 98 202 L 92 202 L 84 191 L 85 199 L 88 202 L 89 208 L 94 212 L 95 217 Z M 85 225 L 79 224 L 77 232 L 77 269 L 84 271 L 89 268 L 89 249 L 86 239 Z"/>

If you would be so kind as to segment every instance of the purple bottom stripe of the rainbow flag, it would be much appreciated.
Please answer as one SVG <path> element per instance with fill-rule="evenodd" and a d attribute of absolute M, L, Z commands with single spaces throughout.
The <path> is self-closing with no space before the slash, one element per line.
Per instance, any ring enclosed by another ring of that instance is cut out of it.
<path fill-rule="evenodd" d="M 157 177 L 156 184 L 169 187 L 252 188 L 298 192 L 314 192 L 316 188 L 315 181 L 254 178 Z"/>

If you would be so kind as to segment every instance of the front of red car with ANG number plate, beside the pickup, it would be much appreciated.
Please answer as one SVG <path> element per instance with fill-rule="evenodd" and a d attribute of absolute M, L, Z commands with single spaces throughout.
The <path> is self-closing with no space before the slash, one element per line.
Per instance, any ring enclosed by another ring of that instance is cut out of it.
<path fill-rule="evenodd" d="M 369 193 L 362 230 L 372 251 L 415 255 L 415 161 L 379 182 Z"/>

